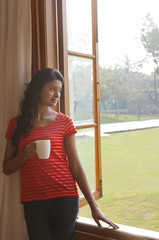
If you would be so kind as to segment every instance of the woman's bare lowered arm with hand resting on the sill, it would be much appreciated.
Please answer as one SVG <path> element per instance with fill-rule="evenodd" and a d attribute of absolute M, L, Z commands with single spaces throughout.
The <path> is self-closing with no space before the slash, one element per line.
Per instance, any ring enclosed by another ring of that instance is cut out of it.
<path fill-rule="evenodd" d="M 70 171 L 75 180 L 77 181 L 79 188 L 81 189 L 91 208 L 92 217 L 94 218 L 95 222 L 100 228 L 101 223 L 99 220 L 102 220 L 103 222 L 106 222 L 107 224 L 111 225 L 114 229 L 117 229 L 118 226 L 114 224 L 109 218 L 105 217 L 103 213 L 98 209 L 94 196 L 89 187 L 87 177 L 84 173 L 84 170 L 78 157 L 75 143 L 75 134 L 65 139 L 65 151 L 68 156 Z"/>

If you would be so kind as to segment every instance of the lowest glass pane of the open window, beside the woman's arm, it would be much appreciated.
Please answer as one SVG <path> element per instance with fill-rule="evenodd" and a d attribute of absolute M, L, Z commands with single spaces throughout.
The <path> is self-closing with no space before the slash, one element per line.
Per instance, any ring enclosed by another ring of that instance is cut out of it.
<path fill-rule="evenodd" d="M 76 145 L 80 161 L 87 175 L 89 186 L 92 191 L 96 189 L 95 177 L 95 137 L 94 128 L 78 130 Z M 79 191 L 81 195 L 81 192 Z"/>

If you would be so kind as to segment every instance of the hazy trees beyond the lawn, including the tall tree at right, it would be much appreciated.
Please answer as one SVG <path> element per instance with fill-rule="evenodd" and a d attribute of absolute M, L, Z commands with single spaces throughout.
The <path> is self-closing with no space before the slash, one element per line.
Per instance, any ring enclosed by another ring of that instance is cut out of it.
<path fill-rule="evenodd" d="M 125 56 L 124 63 L 99 68 L 102 88 L 101 110 L 115 113 L 159 115 L 159 28 L 151 15 L 145 16 L 141 29 L 141 43 L 146 57 L 132 62 Z M 153 62 L 151 74 L 142 73 L 145 62 Z"/>

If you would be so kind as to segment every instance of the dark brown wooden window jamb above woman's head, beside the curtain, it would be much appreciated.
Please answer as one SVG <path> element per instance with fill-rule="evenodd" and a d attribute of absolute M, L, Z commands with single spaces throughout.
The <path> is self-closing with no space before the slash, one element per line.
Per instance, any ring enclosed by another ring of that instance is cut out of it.
<path fill-rule="evenodd" d="M 31 0 L 32 75 L 39 69 L 58 68 L 56 0 Z"/>

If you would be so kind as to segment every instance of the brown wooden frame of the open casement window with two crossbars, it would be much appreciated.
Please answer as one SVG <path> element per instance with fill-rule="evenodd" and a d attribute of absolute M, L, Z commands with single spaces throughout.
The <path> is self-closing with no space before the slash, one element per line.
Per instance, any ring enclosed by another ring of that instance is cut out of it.
<path fill-rule="evenodd" d="M 95 159 L 96 159 L 96 189 L 93 192 L 95 199 L 102 197 L 102 170 L 101 170 L 101 143 L 100 143 L 100 83 L 98 79 L 98 30 L 97 30 L 97 0 L 92 1 L 92 54 L 83 54 L 67 49 L 67 18 L 66 18 L 66 0 L 57 1 L 58 14 L 58 40 L 59 40 L 59 69 L 62 72 L 65 83 L 61 98 L 60 109 L 69 115 L 69 81 L 68 81 L 68 56 L 76 56 L 93 60 L 93 78 L 94 78 L 94 123 L 85 125 L 76 125 L 77 129 L 92 128 L 95 129 Z M 85 205 L 86 199 L 80 198 L 80 206 Z"/>

